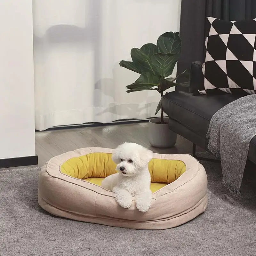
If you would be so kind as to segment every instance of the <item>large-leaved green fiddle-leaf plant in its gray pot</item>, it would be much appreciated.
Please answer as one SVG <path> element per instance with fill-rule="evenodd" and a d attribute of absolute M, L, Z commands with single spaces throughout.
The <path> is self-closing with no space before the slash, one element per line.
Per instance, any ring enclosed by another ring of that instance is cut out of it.
<path fill-rule="evenodd" d="M 140 77 L 132 84 L 127 85 L 127 92 L 137 92 L 144 90 L 156 90 L 160 93 L 161 99 L 156 108 L 156 113 L 161 109 L 160 118 L 149 120 L 149 142 L 154 147 L 172 147 L 176 143 L 176 133 L 168 127 L 168 117 L 164 117 L 162 100 L 164 91 L 167 89 L 183 85 L 188 82 L 177 84 L 178 77 L 189 78 L 189 71 L 185 70 L 176 77 L 172 75 L 174 66 L 180 57 L 181 39 L 179 32 L 166 32 L 159 36 L 157 43 L 144 44 L 140 49 L 132 48 L 132 61 L 121 60 L 120 66 L 130 69 L 140 74 Z"/>

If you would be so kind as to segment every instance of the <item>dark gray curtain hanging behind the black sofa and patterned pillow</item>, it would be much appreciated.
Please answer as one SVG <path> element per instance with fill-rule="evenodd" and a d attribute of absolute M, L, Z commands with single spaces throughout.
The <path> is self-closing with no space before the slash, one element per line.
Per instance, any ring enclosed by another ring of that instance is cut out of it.
<path fill-rule="evenodd" d="M 180 13 L 181 56 L 177 74 L 204 56 L 204 22 L 207 16 L 222 20 L 256 18 L 256 0 L 182 0 Z M 181 81 L 179 81 L 181 82 Z"/>

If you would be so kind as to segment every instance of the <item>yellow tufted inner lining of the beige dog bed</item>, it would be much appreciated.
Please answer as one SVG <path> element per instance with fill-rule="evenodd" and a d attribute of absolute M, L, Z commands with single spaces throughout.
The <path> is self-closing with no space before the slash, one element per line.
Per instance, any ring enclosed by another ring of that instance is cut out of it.
<path fill-rule="evenodd" d="M 107 176 L 117 173 L 111 153 L 90 153 L 68 159 L 60 167 L 62 173 L 71 177 L 101 185 Z M 153 158 L 148 164 L 151 175 L 150 189 L 154 193 L 174 180 L 185 171 L 186 165 L 180 160 Z"/>

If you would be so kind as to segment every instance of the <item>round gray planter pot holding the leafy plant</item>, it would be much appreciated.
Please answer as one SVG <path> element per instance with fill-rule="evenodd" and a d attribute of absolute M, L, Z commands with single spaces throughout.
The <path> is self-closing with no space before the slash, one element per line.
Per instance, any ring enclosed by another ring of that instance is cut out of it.
<path fill-rule="evenodd" d="M 169 129 L 168 117 L 164 117 L 167 124 L 156 124 L 160 117 L 152 118 L 148 123 L 148 140 L 156 148 L 170 148 L 176 143 L 177 134 Z"/>

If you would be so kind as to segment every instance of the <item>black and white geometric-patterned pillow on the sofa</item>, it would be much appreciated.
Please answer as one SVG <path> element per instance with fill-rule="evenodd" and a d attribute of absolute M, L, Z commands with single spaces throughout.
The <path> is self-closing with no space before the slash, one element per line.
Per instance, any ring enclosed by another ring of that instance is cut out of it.
<path fill-rule="evenodd" d="M 256 92 L 256 19 L 226 21 L 208 17 L 201 94 Z"/>

